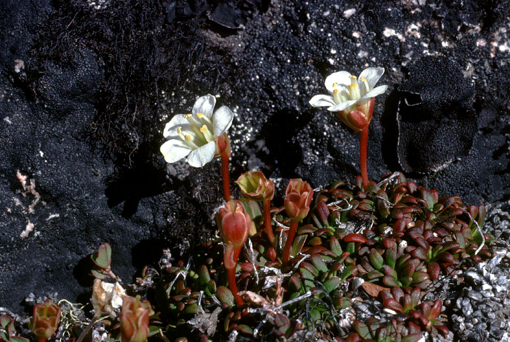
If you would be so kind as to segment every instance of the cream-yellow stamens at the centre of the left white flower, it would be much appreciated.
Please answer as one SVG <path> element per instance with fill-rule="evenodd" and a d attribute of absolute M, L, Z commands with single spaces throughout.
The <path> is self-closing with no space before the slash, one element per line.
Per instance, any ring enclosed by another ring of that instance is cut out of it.
<path fill-rule="evenodd" d="M 190 130 L 183 131 L 182 127 L 178 127 L 177 134 L 191 149 L 197 149 L 216 140 L 212 133 L 214 131 L 212 121 L 206 115 L 197 113 L 195 118 L 192 114 L 186 114 L 184 118 L 188 121 Z"/>

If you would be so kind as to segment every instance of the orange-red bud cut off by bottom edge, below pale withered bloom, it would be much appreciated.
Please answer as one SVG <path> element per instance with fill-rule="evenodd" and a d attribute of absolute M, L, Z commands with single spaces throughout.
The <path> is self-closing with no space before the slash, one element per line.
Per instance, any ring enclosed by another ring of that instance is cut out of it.
<path fill-rule="evenodd" d="M 126 296 L 120 311 L 122 342 L 145 342 L 149 336 L 149 316 L 154 314 L 151 303 Z"/>

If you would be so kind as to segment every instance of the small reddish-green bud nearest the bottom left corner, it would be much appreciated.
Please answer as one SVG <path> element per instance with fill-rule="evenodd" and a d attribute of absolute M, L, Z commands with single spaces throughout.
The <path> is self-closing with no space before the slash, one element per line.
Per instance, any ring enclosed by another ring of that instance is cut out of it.
<path fill-rule="evenodd" d="M 34 306 L 34 315 L 29 328 L 39 338 L 49 338 L 55 333 L 60 323 L 60 307 L 47 299 Z"/>

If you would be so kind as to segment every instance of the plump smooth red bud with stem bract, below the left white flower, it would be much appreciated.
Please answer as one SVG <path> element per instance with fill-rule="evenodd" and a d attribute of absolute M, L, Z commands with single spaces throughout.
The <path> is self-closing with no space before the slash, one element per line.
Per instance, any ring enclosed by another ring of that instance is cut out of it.
<path fill-rule="evenodd" d="M 241 202 L 230 200 L 216 214 L 216 222 L 225 242 L 225 267 L 234 268 L 242 246 L 245 245 L 248 233 L 253 225 L 250 215 Z"/>

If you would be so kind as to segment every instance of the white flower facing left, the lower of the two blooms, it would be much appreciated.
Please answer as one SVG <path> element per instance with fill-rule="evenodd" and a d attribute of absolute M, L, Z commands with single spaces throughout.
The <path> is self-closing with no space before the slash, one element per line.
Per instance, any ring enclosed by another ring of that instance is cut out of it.
<path fill-rule="evenodd" d="M 177 114 L 163 131 L 167 139 L 160 151 L 167 163 L 174 163 L 188 157 L 188 163 L 202 167 L 218 157 L 216 141 L 232 125 L 234 113 L 222 106 L 214 114 L 216 99 L 211 94 L 199 97 L 191 114 Z"/>

